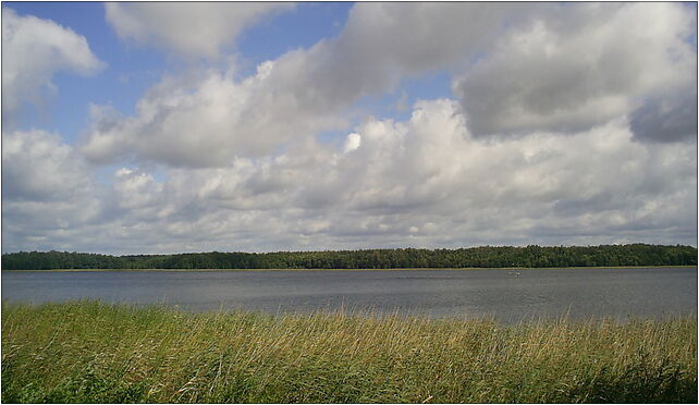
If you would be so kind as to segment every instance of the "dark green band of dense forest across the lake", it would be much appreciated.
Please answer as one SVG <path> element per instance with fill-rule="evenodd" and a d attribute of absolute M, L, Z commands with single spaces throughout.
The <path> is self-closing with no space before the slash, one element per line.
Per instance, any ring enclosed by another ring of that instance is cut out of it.
<path fill-rule="evenodd" d="M 391 269 L 697 265 L 697 248 L 661 245 L 481 246 L 458 249 L 193 253 L 109 256 L 68 251 L 2 255 L 3 270 L 49 269 Z"/>

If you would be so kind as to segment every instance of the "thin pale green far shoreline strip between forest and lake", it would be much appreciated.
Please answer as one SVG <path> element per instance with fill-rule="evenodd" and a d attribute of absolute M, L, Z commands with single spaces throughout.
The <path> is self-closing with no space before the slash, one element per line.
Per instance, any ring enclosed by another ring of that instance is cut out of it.
<path fill-rule="evenodd" d="M 223 272 L 223 271 L 414 271 L 414 270 L 584 270 L 584 269 L 689 269 L 684 266 L 593 266 L 593 267 L 464 267 L 464 268 L 390 268 L 390 269 L 50 269 L 50 270 L 4 270 L 2 272 Z"/>

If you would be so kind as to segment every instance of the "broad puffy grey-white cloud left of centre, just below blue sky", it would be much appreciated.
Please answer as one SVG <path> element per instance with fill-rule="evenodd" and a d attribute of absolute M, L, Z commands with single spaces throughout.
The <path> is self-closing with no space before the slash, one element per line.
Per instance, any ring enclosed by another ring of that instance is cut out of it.
<path fill-rule="evenodd" d="M 283 86 L 270 84 L 273 62 L 241 82 L 211 70 L 167 77 L 137 103 L 134 116 L 93 106 L 83 151 L 96 162 L 124 157 L 173 167 L 217 167 L 236 156 L 266 156 L 291 140 L 346 125 L 318 113 Z"/>

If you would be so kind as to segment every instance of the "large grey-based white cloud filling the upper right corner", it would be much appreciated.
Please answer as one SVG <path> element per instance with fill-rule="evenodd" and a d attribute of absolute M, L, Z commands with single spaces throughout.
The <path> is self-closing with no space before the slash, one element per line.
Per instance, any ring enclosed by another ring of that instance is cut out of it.
<path fill-rule="evenodd" d="M 507 33 L 455 81 L 475 133 L 575 132 L 633 112 L 639 99 L 660 89 L 678 89 L 680 96 L 696 89 L 696 47 L 686 40 L 696 20 L 683 4 L 565 4 L 544 11 Z M 635 120 L 636 132 L 648 137 L 654 128 L 638 127 L 641 121 Z"/>

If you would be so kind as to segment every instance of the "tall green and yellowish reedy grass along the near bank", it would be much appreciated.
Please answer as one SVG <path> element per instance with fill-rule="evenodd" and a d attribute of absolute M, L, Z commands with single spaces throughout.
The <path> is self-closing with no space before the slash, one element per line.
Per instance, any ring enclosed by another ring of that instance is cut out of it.
<path fill-rule="evenodd" d="M 2 402 L 697 401 L 697 321 L 2 305 Z"/>

